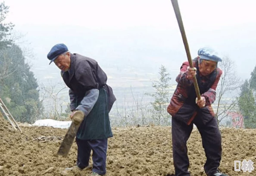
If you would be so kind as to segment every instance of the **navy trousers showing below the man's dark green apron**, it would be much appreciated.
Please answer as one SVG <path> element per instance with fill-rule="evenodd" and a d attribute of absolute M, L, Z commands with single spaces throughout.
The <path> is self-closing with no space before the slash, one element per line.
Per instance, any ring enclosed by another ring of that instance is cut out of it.
<path fill-rule="evenodd" d="M 81 169 L 84 169 L 89 165 L 89 159 L 92 150 L 92 171 L 100 175 L 105 175 L 108 140 L 79 140 L 78 138 L 76 138 L 75 141 L 78 146 L 77 166 Z"/>

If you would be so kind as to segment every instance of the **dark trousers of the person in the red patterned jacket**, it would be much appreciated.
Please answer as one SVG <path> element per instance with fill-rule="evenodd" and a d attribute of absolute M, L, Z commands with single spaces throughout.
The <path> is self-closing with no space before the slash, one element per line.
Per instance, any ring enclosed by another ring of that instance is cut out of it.
<path fill-rule="evenodd" d="M 203 124 L 200 117 L 196 116 L 193 123 L 197 126 L 202 137 L 206 155 L 205 173 L 207 176 L 211 176 L 212 173 L 218 171 L 222 155 L 222 140 L 217 121 L 215 118 L 212 118 L 208 123 Z M 175 176 L 190 176 L 188 172 L 187 140 L 193 129 L 193 123 L 187 125 L 182 121 L 172 118 L 172 152 Z"/>

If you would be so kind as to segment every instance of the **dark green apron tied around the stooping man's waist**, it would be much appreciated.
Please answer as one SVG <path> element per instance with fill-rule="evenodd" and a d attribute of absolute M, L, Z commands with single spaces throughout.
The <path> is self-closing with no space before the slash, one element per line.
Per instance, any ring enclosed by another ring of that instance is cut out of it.
<path fill-rule="evenodd" d="M 99 90 L 99 97 L 91 112 L 84 117 L 76 137 L 80 140 L 102 140 L 113 137 L 109 121 L 107 94 L 104 88 Z M 79 102 L 80 104 L 80 102 Z"/>

